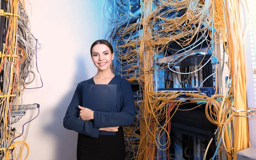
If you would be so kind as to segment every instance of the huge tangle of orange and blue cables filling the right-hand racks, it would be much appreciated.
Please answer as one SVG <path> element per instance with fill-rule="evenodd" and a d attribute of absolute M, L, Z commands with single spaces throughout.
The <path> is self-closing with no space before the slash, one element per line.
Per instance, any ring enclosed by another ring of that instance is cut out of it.
<path fill-rule="evenodd" d="M 172 117 L 177 110 L 186 112 L 203 106 L 208 120 L 217 126 L 217 146 L 212 159 L 221 150 L 227 152 L 229 160 L 236 159 L 237 151 L 250 146 L 247 118 L 237 117 L 232 109 L 233 106 L 236 110 L 246 109 L 244 31 L 241 25 L 241 15 L 245 12 L 239 8 L 243 5 L 246 10 L 245 5 L 232 0 L 143 0 L 140 1 L 140 17 L 131 22 L 131 17 L 128 19 L 122 11 L 129 13 L 132 5 L 128 4 L 135 4 L 135 1 L 111 2 L 108 2 L 111 34 L 107 36 L 118 52 L 115 73 L 132 83 L 137 81 L 143 95 L 135 100 L 139 104 L 136 123 L 125 129 L 127 152 L 130 152 L 127 159 L 154 160 L 159 158 L 160 150 L 164 150 L 168 160 L 172 159 L 169 154 Z M 116 19 L 121 20 L 122 25 L 113 21 Z M 225 41 L 224 57 L 220 57 L 216 48 Z M 200 52 L 206 54 L 201 55 L 197 65 L 179 66 Z M 224 61 L 225 55 L 229 57 L 228 63 Z M 170 58 L 159 61 L 167 56 Z M 217 58 L 223 62 L 222 66 L 218 65 Z M 220 94 L 215 90 L 211 96 L 203 93 L 200 89 L 211 87 L 213 83 L 219 90 L 225 86 L 219 86 L 224 78 L 224 73 L 219 72 L 223 72 L 225 66 L 229 69 L 225 92 Z M 156 75 L 160 76 L 162 71 L 165 87 L 172 88 L 174 84 L 180 91 L 155 88 L 158 85 L 155 84 Z M 204 79 L 196 84 L 192 77 L 199 73 L 205 73 Z M 195 88 L 195 91 L 182 90 L 186 87 Z M 197 105 L 191 109 L 179 108 L 189 103 Z M 160 143 L 164 133 L 165 144 Z M 206 146 L 204 160 L 209 156 L 212 141 L 213 138 Z"/>

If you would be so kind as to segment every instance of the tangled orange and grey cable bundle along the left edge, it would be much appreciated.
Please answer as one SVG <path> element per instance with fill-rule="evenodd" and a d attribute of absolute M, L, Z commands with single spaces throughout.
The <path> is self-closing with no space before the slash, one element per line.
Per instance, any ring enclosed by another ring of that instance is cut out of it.
<path fill-rule="evenodd" d="M 11 114 L 12 111 L 18 110 L 19 104 L 22 104 L 22 95 L 27 89 L 26 85 L 31 84 L 35 79 L 32 68 L 41 45 L 30 32 L 24 0 L 9 0 L 2 4 L 5 4 L 1 8 L 5 8 L 3 12 L 6 16 L 4 18 L 6 33 L 4 32 L 5 41 L 1 48 L 3 53 L 0 62 L 0 154 L 1 160 L 25 160 L 29 154 L 29 146 L 25 142 L 26 135 L 23 141 L 15 141 L 23 136 L 23 132 L 17 133 L 16 129 L 12 128 L 12 124 L 19 121 L 21 116 L 12 117 Z M 30 73 L 33 79 L 26 81 Z M 24 148 L 27 150 L 25 157 L 22 156 Z"/>

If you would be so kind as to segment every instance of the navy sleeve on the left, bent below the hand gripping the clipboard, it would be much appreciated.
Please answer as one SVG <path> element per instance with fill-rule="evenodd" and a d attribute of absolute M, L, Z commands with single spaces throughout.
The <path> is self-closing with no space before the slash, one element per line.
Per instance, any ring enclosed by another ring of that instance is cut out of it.
<path fill-rule="evenodd" d="M 76 132 L 79 132 L 80 134 L 88 135 L 93 138 L 98 138 L 99 128 L 94 128 L 92 121 L 83 121 L 79 119 L 80 109 L 78 106 L 82 104 L 81 90 L 82 87 L 79 83 L 73 95 L 72 101 L 67 108 L 67 112 L 63 120 L 63 126 L 66 129 L 74 130 Z"/>

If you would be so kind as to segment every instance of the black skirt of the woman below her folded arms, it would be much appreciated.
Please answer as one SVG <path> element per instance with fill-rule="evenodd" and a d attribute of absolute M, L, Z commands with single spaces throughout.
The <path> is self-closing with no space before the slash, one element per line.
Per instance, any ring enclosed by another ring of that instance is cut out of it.
<path fill-rule="evenodd" d="M 92 138 L 78 135 L 77 160 L 125 160 L 125 141 L 122 127 L 116 135 L 99 135 Z"/>

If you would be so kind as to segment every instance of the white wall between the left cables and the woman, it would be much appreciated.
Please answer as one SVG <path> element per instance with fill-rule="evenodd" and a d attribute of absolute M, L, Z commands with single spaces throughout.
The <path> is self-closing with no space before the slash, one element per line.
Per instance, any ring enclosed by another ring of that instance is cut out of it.
<path fill-rule="evenodd" d="M 38 52 L 44 87 L 23 95 L 23 104 L 41 106 L 30 124 L 27 160 L 76 160 L 77 133 L 64 129 L 63 118 L 76 85 L 96 74 L 90 45 L 102 39 L 103 5 L 104 0 L 26 0 L 32 33 L 44 44 Z M 37 75 L 27 87 L 40 85 Z M 30 112 L 15 124 L 17 132 Z"/>

